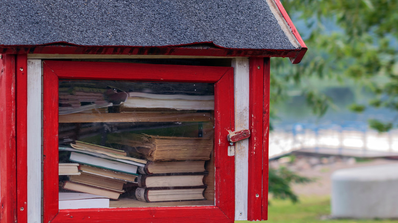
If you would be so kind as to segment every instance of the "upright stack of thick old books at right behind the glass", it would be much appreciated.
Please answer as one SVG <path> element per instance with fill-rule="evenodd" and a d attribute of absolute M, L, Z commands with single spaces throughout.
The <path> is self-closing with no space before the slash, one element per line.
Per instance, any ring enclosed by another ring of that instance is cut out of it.
<path fill-rule="evenodd" d="M 131 134 L 108 141 L 127 145 L 148 160 L 138 168 L 138 185 L 128 191 L 129 197 L 143 202 L 205 200 L 205 162 L 213 149 L 212 138 Z"/>

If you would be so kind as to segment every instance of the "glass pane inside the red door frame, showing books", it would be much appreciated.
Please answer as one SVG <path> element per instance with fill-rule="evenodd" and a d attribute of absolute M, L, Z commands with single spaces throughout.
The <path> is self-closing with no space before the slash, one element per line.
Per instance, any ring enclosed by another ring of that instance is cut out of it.
<path fill-rule="evenodd" d="M 214 205 L 213 115 L 210 83 L 60 80 L 60 208 Z"/>

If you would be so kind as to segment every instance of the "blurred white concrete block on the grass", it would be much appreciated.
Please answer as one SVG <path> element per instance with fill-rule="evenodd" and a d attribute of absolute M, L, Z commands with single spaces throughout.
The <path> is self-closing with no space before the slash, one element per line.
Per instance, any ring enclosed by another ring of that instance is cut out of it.
<path fill-rule="evenodd" d="M 398 218 L 398 164 L 334 172 L 331 203 L 333 217 Z"/>

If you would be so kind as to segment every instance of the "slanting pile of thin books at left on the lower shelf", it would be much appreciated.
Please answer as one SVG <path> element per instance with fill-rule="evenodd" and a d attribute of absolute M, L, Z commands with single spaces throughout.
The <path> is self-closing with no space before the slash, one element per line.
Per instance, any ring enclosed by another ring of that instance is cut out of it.
<path fill-rule="evenodd" d="M 65 190 L 117 200 L 125 192 L 126 183 L 136 183 L 138 166 L 145 166 L 146 163 L 145 160 L 128 157 L 121 150 L 79 141 L 70 145 L 59 146 L 59 150 L 70 151 L 69 161 L 78 163 L 75 165 L 79 166 L 79 171 L 78 174 L 67 174 L 67 179 L 60 182 L 60 187 Z M 64 165 L 60 163 L 60 168 Z"/>

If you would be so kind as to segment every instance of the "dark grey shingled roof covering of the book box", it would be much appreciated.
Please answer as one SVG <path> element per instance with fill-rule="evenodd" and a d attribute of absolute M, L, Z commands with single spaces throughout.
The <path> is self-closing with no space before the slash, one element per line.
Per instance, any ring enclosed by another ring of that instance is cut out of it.
<path fill-rule="evenodd" d="M 274 0 L 1 2 L 0 46 L 62 42 L 81 46 L 213 43 L 230 49 L 302 47 L 272 5 Z"/>

